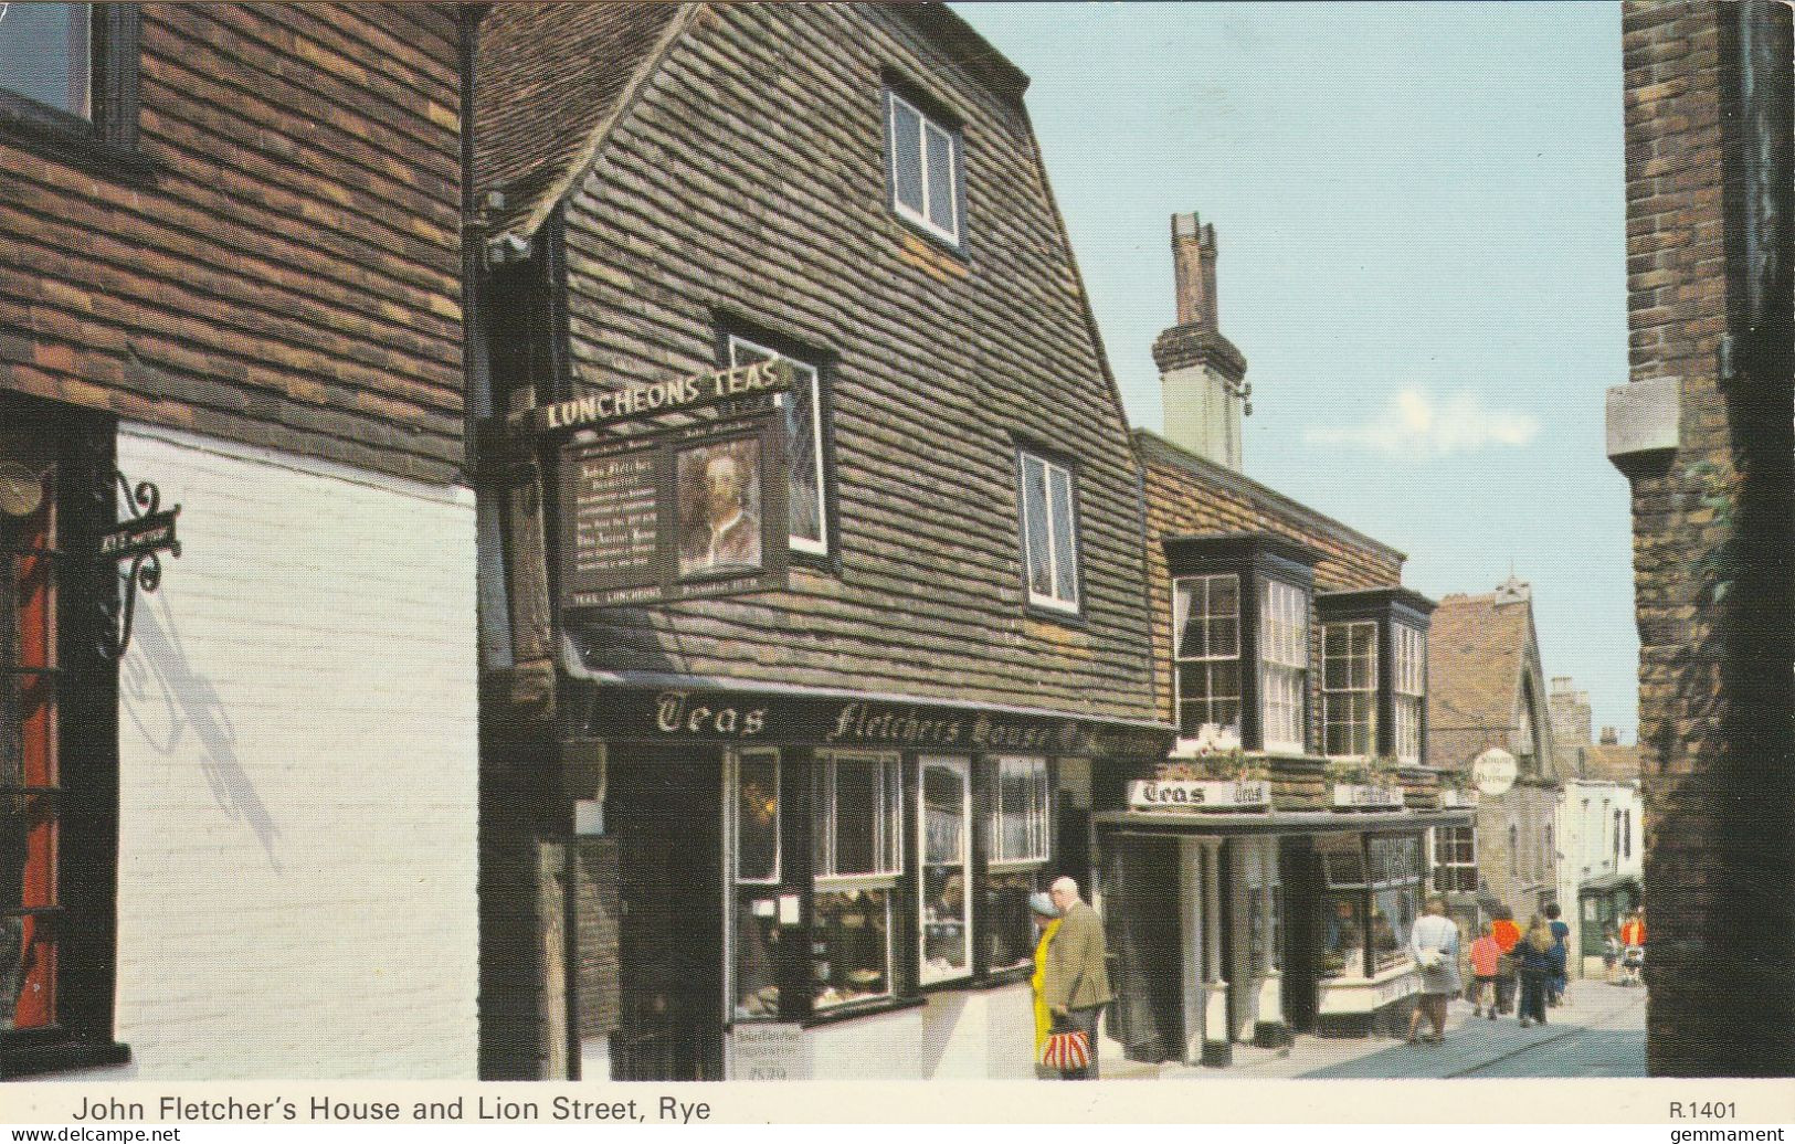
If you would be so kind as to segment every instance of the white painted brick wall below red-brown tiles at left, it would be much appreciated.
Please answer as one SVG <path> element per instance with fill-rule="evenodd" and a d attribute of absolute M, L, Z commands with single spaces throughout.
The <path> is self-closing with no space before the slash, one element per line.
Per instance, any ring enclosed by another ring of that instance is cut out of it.
<path fill-rule="evenodd" d="M 474 1078 L 472 493 L 140 427 L 118 468 L 183 552 L 118 674 L 104 1076 Z"/>

